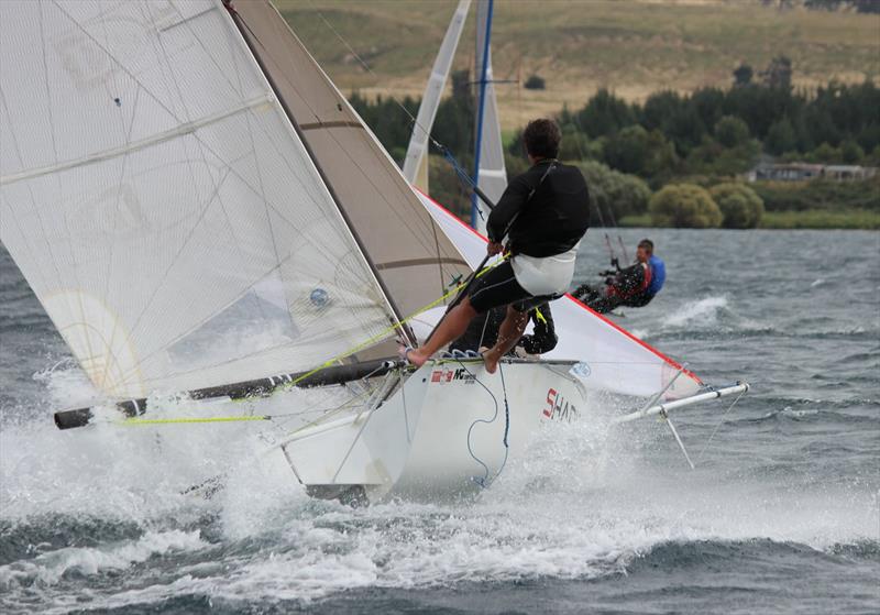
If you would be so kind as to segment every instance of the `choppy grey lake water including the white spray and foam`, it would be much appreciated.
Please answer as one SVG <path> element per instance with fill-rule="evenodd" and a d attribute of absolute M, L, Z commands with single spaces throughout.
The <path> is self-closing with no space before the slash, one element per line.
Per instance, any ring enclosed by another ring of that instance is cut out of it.
<path fill-rule="evenodd" d="M 880 234 L 646 233 L 670 277 L 620 323 L 755 387 L 679 415 L 696 471 L 661 424 L 583 421 L 472 503 L 366 509 L 308 499 L 250 426 L 56 431 L 88 385 L 0 251 L 0 611 L 880 612 Z"/>

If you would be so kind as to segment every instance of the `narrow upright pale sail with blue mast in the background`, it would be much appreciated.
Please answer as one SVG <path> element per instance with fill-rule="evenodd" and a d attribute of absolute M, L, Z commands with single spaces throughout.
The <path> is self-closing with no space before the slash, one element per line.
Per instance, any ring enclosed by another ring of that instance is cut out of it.
<path fill-rule="evenodd" d="M 498 202 L 498 199 L 507 188 L 507 171 L 504 167 L 504 146 L 502 143 L 502 129 L 498 120 L 498 105 L 495 100 L 495 84 L 493 83 L 492 74 L 492 45 L 486 45 L 486 39 L 491 42 L 491 17 L 492 17 L 492 0 L 477 0 L 476 2 L 476 67 L 474 75 L 476 76 L 477 94 L 482 92 L 483 101 L 481 105 L 477 98 L 477 118 L 476 118 L 476 143 L 480 147 L 480 155 L 477 156 L 479 166 L 476 168 L 476 176 L 474 180 L 477 187 L 485 193 L 492 202 Z M 485 54 L 485 58 L 484 58 Z M 485 84 L 480 84 L 483 73 L 483 63 L 485 62 Z M 484 87 L 481 87 L 483 86 Z M 479 116 L 482 108 L 482 117 Z M 474 228 L 481 233 L 486 232 L 486 219 L 488 218 L 488 208 L 486 205 L 476 199 L 476 206 L 480 208 L 482 215 L 477 215 L 474 220 Z"/>

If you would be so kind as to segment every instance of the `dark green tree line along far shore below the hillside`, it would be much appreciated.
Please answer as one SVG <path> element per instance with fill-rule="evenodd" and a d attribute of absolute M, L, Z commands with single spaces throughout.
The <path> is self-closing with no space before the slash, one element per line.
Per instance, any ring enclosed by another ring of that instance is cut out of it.
<path fill-rule="evenodd" d="M 624 217 L 648 213 L 657 224 L 684 224 L 681 217 L 663 213 L 678 199 L 680 204 L 701 204 L 682 205 L 702 212 L 690 217 L 690 226 L 754 227 L 760 222 L 765 205 L 770 210 L 785 209 L 796 201 L 798 208 L 804 208 L 798 199 L 805 197 L 792 190 L 756 191 L 743 186 L 734 195 L 732 180 L 762 156 L 880 165 L 880 88 L 868 80 L 798 89 L 792 87 L 791 76 L 791 62 L 779 56 L 757 72 L 740 65 L 728 89 L 666 90 L 645 102 L 627 102 L 612 90 L 601 89 L 582 108 L 563 108 L 557 117 L 563 131 L 560 157 L 578 163 L 584 172 L 593 194 L 594 222 L 608 226 Z M 470 171 L 474 96 L 466 70 L 453 74 L 452 81 L 453 95 L 440 105 L 433 135 Z M 354 94 L 351 102 L 392 156 L 402 162 L 413 129 L 407 112 L 416 116 L 419 101 L 370 101 Z M 525 169 L 521 131 L 509 140 L 505 157 L 509 175 Z M 433 160 L 430 172 L 435 198 L 460 215 L 470 211 L 466 190 L 449 165 Z M 716 185 L 728 186 L 713 190 Z M 663 187 L 670 190 L 657 200 Z M 855 207 L 865 205 L 859 197 L 864 189 L 847 190 L 834 191 L 845 201 L 851 196 Z M 875 195 L 867 206 L 880 209 L 877 200 L 880 197 Z M 654 206 L 654 201 L 662 205 Z"/>

